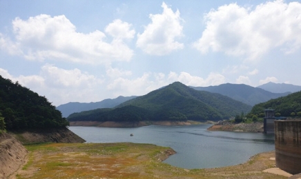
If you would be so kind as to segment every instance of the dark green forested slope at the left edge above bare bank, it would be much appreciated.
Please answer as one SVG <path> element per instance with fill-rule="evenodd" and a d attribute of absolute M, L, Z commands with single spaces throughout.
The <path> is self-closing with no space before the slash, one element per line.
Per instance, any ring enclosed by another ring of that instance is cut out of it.
<path fill-rule="evenodd" d="M 44 96 L 0 76 L 0 113 L 6 129 L 41 129 L 69 125 Z"/>

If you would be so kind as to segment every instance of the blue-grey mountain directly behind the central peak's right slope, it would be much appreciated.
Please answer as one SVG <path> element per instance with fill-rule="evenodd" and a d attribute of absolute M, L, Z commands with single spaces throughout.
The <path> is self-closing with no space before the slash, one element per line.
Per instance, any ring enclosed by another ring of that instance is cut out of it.
<path fill-rule="evenodd" d="M 242 103 L 246 103 L 252 106 L 258 103 L 269 101 L 272 98 L 278 98 L 280 96 L 287 96 L 288 94 L 290 94 L 290 92 L 273 93 L 273 92 L 268 92 L 259 87 L 251 87 L 249 85 L 231 84 L 231 83 L 226 83 L 218 86 L 192 87 L 192 88 L 229 96 L 230 98 L 233 98 L 237 101 L 241 101 Z"/>

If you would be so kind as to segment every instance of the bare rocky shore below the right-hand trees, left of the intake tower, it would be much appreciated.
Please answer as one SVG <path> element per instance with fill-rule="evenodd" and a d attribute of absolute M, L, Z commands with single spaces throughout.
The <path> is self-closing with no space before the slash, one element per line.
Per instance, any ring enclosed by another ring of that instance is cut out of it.
<path fill-rule="evenodd" d="M 263 123 L 231 123 L 229 120 L 219 121 L 208 128 L 209 131 L 243 131 L 243 132 L 263 132 Z"/>

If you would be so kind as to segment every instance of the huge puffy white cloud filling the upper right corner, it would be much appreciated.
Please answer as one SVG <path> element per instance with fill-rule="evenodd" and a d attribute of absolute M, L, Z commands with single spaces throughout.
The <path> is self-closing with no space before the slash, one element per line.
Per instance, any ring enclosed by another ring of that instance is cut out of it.
<path fill-rule="evenodd" d="M 255 8 L 236 3 L 205 15 L 206 29 L 193 46 L 203 54 L 224 52 L 258 60 L 273 48 L 293 53 L 301 47 L 301 3 L 269 1 Z"/>

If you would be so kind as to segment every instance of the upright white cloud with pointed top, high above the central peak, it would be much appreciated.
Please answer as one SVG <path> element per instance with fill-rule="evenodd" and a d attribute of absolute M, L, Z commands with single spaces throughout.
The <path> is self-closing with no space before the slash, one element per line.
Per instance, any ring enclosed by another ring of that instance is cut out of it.
<path fill-rule="evenodd" d="M 184 48 L 183 43 L 175 41 L 183 36 L 179 10 L 173 12 L 166 3 L 162 3 L 162 14 L 150 14 L 149 23 L 142 34 L 137 34 L 137 47 L 147 54 L 162 56 L 174 50 Z"/>

